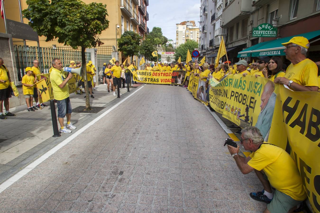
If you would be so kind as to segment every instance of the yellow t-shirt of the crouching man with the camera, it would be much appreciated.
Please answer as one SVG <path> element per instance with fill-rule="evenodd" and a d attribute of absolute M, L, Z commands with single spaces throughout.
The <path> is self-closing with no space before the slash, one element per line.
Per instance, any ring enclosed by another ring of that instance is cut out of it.
<path fill-rule="evenodd" d="M 262 144 L 257 151 L 250 154 L 250 157 L 248 165 L 258 171 L 263 170 L 271 186 L 294 200 L 303 201 L 307 198 L 299 170 L 284 149 Z"/>

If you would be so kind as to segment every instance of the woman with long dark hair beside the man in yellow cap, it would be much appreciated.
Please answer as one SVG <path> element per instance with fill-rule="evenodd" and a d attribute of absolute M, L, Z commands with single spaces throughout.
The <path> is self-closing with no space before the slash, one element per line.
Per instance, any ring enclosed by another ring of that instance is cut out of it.
<path fill-rule="evenodd" d="M 276 77 L 284 77 L 285 73 L 282 71 L 282 61 L 279 57 L 272 57 L 268 63 L 268 69 L 262 71 L 265 78 L 274 81 Z"/>

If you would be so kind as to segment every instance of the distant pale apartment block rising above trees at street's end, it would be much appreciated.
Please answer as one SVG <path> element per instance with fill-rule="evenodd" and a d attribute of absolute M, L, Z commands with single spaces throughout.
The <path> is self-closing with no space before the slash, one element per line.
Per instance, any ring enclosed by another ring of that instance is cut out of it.
<path fill-rule="evenodd" d="M 199 27 L 196 27 L 195 21 L 183 21 L 176 24 L 176 45 L 179 46 L 188 40 L 199 42 Z"/>

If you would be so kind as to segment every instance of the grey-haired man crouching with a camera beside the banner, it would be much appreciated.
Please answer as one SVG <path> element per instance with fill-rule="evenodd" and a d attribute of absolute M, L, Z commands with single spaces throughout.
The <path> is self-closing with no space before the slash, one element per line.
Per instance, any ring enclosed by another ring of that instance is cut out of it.
<path fill-rule="evenodd" d="M 243 174 L 255 171 L 262 183 L 261 192 L 252 192 L 250 197 L 268 203 L 265 213 L 287 213 L 300 209 L 307 194 L 292 157 L 284 149 L 264 142 L 257 127 L 244 128 L 241 133 L 240 142 L 246 150 L 252 151 L 250 156 L 244 158 L 238 155 L 239 146 L 228 145 L 228 150 Z"/>

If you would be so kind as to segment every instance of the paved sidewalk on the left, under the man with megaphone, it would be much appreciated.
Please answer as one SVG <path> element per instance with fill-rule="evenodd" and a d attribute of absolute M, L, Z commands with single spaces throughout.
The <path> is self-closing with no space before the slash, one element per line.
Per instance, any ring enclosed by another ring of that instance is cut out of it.
<path fill-rule="evenodd" d="M 140 85 L 132 86 L 139 87 Z M 94 98 L 90 98 L 90 106 L 109 108 L 121 100 L 121 98 L 113 96 L 112 91 L 108 93 L 107 85 L 100 84 L 96 88 L 98 90 L 93 91 Z M 130 88 L 130 91 L 134 90 L 135 88 Z M 120 93 L 123 94 L 123 97 L 128 95 L 127 89 L 121 89 Z M 84 95 L 70 94 L 72 109 L 85 106 Z M 48 107 L 35 112 L 28 112 L 26 104 L 10 108 L 10 112 L 16 116 L 0 120 L 0 183 L 70 135 L 61 133 L 61 137 L 52 138 L 50 103 L 45 104 Z M 58 115 L 57 106 L 56 114 Z M 79 129 L 97 114 L 72 113 L 71 122 Z M 59 123 L 58 127 L 60 128 Z M 74 132 L 75 130 L 71 134 Z"/>

